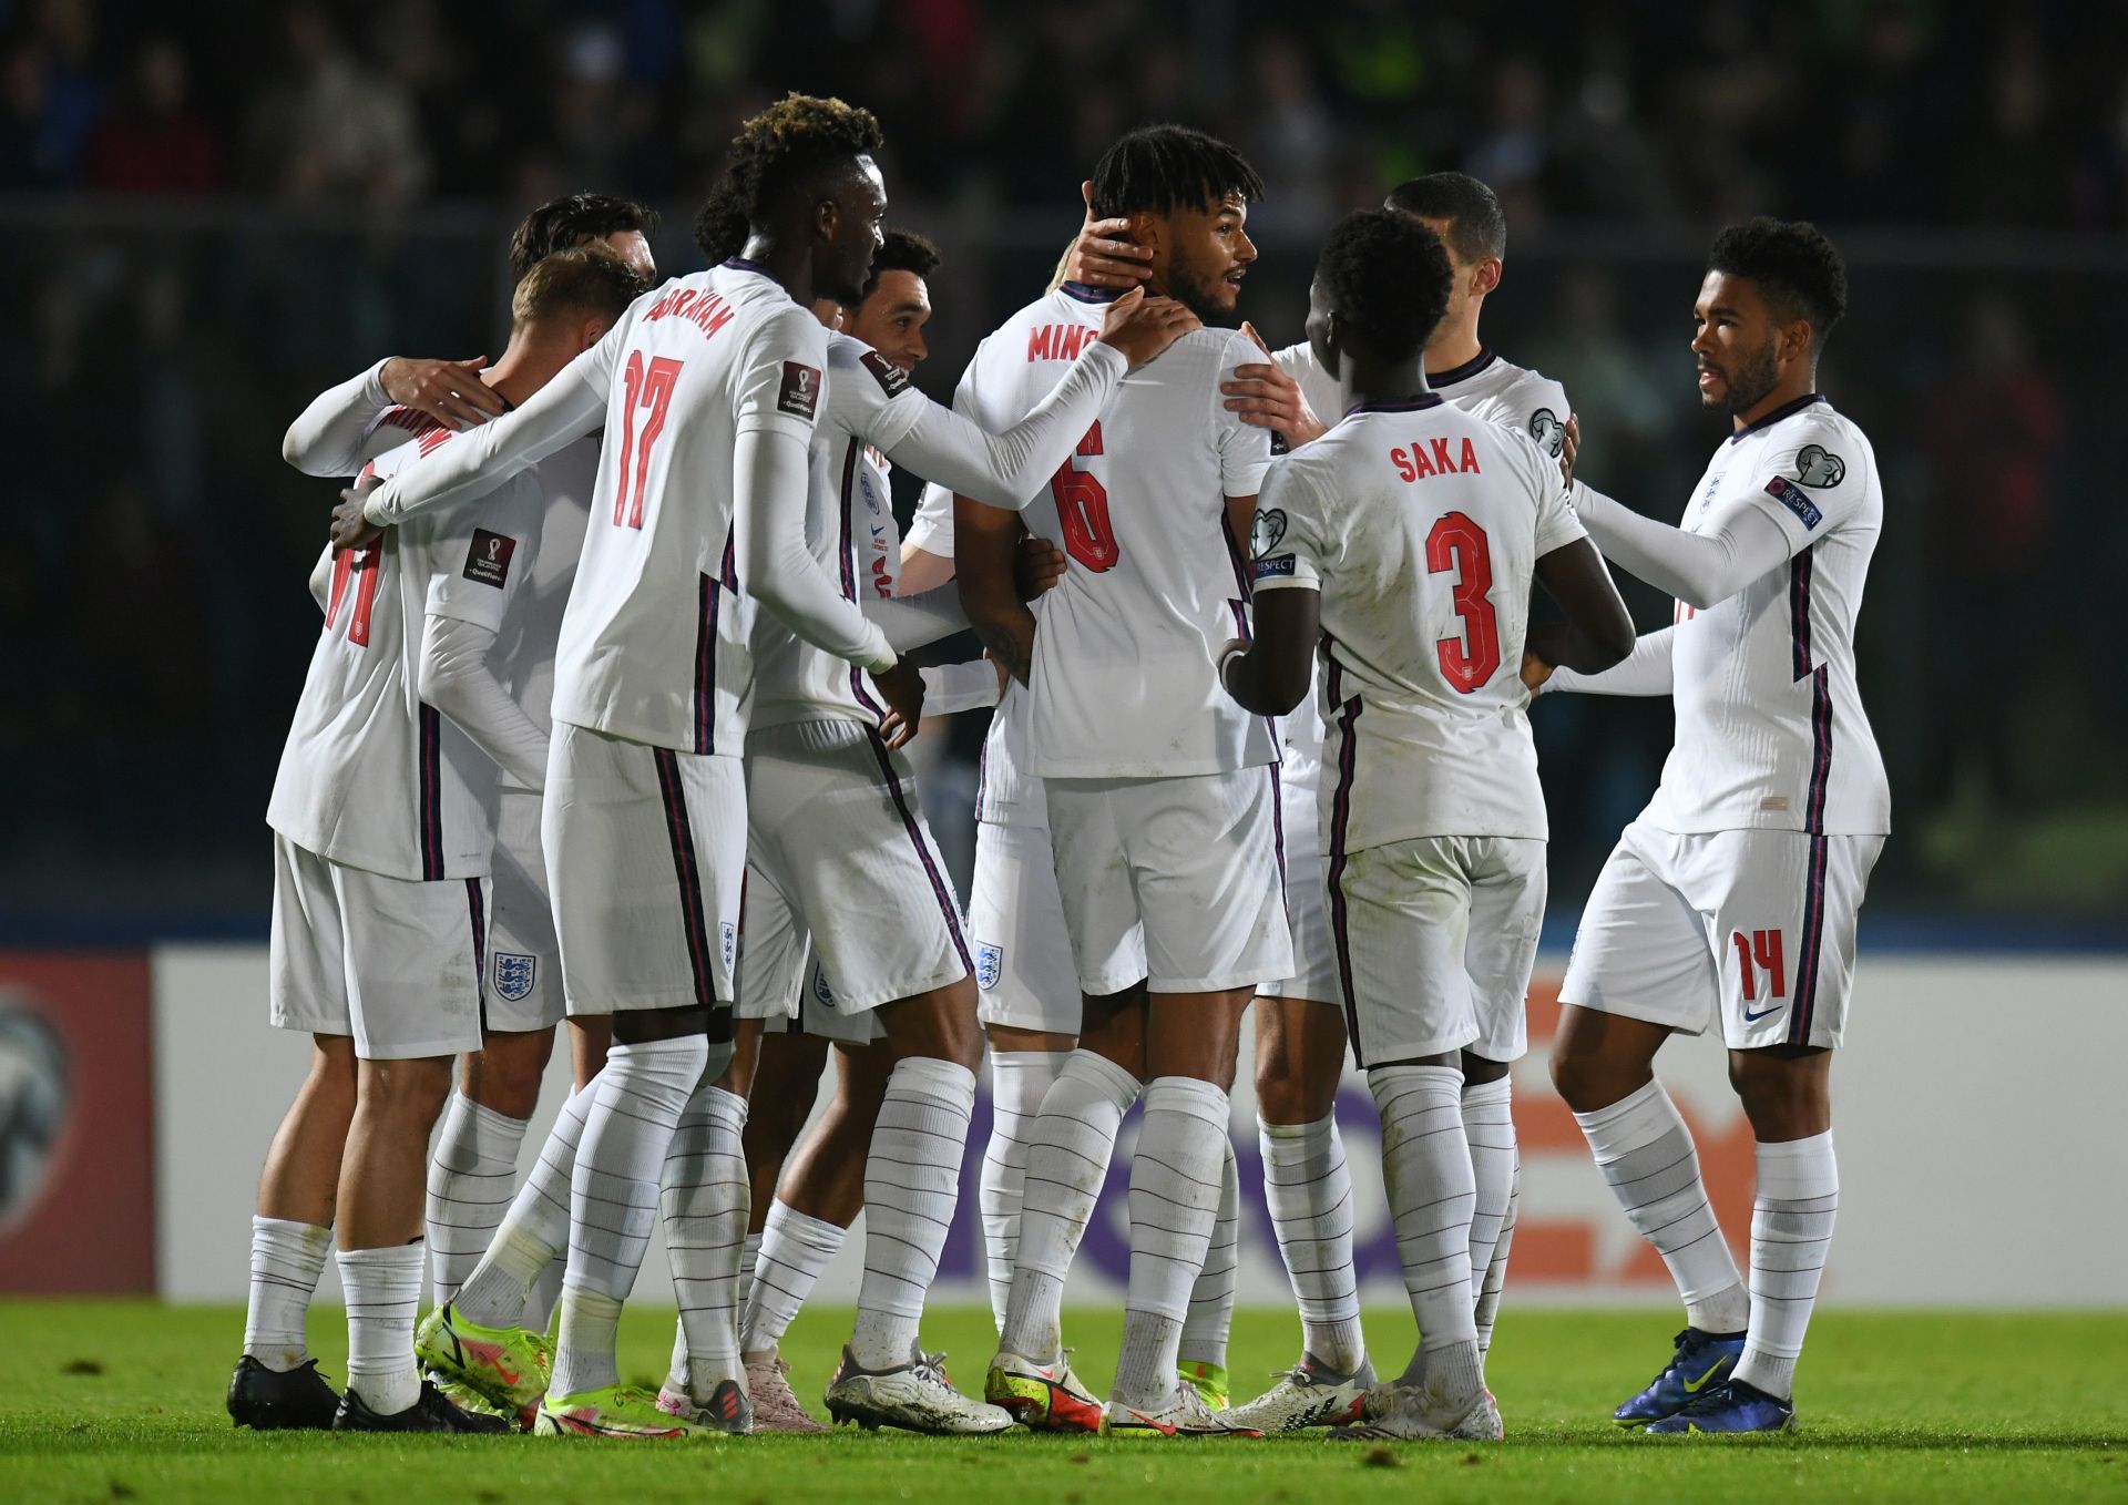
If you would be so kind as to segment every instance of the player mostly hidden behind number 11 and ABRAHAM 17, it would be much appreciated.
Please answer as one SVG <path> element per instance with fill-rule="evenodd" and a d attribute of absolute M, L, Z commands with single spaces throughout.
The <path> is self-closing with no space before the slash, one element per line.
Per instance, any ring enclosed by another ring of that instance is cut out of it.
<path fill-rule="evenodd" d="M 658 275 L 645 230 L 655 213 L 611 194 L 566 194 L 528 213 L 511 234 L 511 285 L 555 251 L 602 243 L 647 287 Z M 485 362 L 387 358 L 364 375 L 319 394 L 289 426 L 281 453 L 304 475 L 353 475 L 362 464 L 362 436 L 394 402 L 428 413 L 460 430 L 506 411 L 479 379 Z M 536 560 L 521 564 L 532 577 L 528 598 L 506 624 L 498 651 L 511 698 L 545 737 L 553 705 L 553 649 L 562 609 L 577 577 L 585 519 L 596 485 L 598 443 L 581 441 L 541 462 L 547 519 Z M 449 715 L 449 709 L 445 707 Z M 532 760 L 545 779 L 547 754 Z M 517 1150 L 541 1077 L 562 1022 L 562 962 L 547 903 L 547 862 L 538 845 L 541 794 L 536 781 L 502 771 L 496 809 L 494 907 L 487 917 L 487 1013 L 481 1049 L 460 1062 L 460 1090 L 443 1115 L 428 1169 L 428 1254 L 432 1305 L 447 1305 L 487 1252 L 517 1186 Z M 602 1018 L 570 1026 L 577 1088 L 606 1060 L 609 1028 Z M 547 1313 L 562 1286 L 562 1260 L 547 1267 L 523 1326 L 547 1328 Z M 464 1399 L 453 1394 L 453 1399 Z"/>

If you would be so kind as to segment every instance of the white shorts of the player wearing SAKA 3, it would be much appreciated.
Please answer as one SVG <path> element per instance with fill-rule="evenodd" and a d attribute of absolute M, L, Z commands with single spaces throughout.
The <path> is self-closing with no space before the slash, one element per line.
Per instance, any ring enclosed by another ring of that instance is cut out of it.
<path fill-rule="evenodd" d="M 1545 843 L 1417 837 L 1330 854 L 1326 900 L 1353 1064 L 1451 1049 L 1515 1060 L 1545 924 Z"/>

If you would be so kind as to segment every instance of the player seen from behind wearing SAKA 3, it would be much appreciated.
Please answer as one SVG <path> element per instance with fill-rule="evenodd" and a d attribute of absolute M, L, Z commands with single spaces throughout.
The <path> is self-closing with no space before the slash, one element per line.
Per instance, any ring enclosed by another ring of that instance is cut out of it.
<path fill-rule="evenodd" d="M 1275 460 L 1258 513 L 1258 636 L 1221 677 L 1281 715 L 1321 654 L 1332 956 L 1353 1060 L 1381 1111 L 1383 1179 L 1419 1347 L 1339 1437 L 1498 1439 L 1477 1343 L 1462 1052 L 1519 1030 L 1545 909 L 1545 800 L 1517 668 L 1526 636 L 1585 671 L 1632 619 L 1551 456 L 1441 400 L 1426 338 L 1449 258 L 1368 209 L 1324 243 L 1309 345 L 1343 419 Z M 1566 622 L 1530 628 L 1543 581 Z"/>

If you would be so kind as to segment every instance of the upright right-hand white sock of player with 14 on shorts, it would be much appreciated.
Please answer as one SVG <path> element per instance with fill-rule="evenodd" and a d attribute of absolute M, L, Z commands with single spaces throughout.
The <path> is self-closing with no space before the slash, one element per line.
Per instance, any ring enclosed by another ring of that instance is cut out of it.
<path fill-rule="evenodd" d="M 1751 1203 L 1751 1337 L 1736 1377 L 1766 1394 L 1790 1396 L 1802 1333 L 1811 1326 L 1817 1279 L 1841 1209 L 1841 1171 L 1832 1130 L 1758 1147 L 1758 1196 Z"/>

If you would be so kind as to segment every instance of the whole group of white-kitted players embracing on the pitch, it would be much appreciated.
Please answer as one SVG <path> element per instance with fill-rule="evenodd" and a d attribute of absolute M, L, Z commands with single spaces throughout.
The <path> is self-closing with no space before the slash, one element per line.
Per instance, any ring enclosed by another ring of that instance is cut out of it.
<path fill-rule="evenodd" d="M 881 230 L 879 145 L 841 100 L 749 119 L 696 226 L 711 268 L 662 285 L 647 211 L 555 200 L 511 247 L 500 362 L 385 360 L 289 428 L 292 464 L 358 481 L 268 809 L 272 1015 L 315 1054 L 260 1184 L 230 1413 L 821 1430 L 777 1345 L 864 1209 L 834 1420 L 1498 1439 L 1509 1069 L 1545 909 L 1528 702 L 1583 690 L 1677 702 L 1553 1052 L 1688 1311 L 1617 1420 L 1790 1426 L 1890 820 L 1853 683 L 1881 492 L 1815 390 L 1839 255 L 1807 224 L 1715 241 L 1692 349 L 1734 432 L 1670 528 L 1573 481 L 1566 394 L 1479 341 L 1507 234 L 1475 179 L 1339 221 L 1307 343 L 1270 353 L 1221 328 L 1264 183 L 1211 136 L 1134 130 L 1058 285 L 938 407 L 911 383 L 938 251 Z M 930 483 L 907 541 L 894 464 Z M 1675 624 L 1636 639 L 1607 558 Z M 968 626 L 985 658 L 907 662 Z M 964 909 L 900 749 L 992 705 Z M 1251 1003 L 1302 1341 L 1230 1405 Z M 577 1090 L 517 1186 L 564 1015 Z M 1713 1022 L 1760 1141 L 1749 1281 L 1651 1071 Z M 919 1324 L 985 1043 L 998 1354 L 975 1399 Z M 1419 1333 L 1387 1382 L 1332 1118 L 1347 1049 Z M 1062 1292 L 1138 1098 L 1096 1399 Z M 649 1394 L 615 1333 L 660 1218 L 679 1330 Z M 345 1394 L 304 1343 L 334 1243 Z"/>

